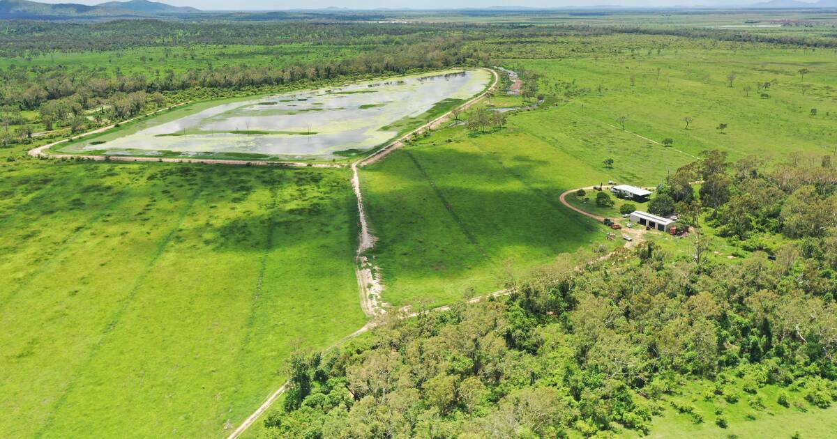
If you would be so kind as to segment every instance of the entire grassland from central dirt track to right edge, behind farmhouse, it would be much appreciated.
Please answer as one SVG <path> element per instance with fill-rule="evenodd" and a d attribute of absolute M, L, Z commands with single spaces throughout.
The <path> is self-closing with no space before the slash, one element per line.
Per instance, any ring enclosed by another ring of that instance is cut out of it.
<path fill-rule="evenodd" d="M 608 38 L 598 43 L 619 47 L 619 37 Z M 486 294 L 502 288 L 507 273 L 591 242 L 620 245 L 592 220 L 567 212 L 558 203 L 562 191 L 609 180 L 656 186 L 707 149 L 727 151 L 731 160 L 833 152 L 833 51 L 679 48 L 649 55 L 629 46 L 609 55 L 506 59 L 502 65 L 540 75 L 544 105 L 510 114 L 493 133 L 438 130 L 362 169 L 385 301 L 440 304 Z M 521 53 L 540 56 L 544 47 Z M 809 69 L 804 81 L 798 69 Z M 756 82 L 772 83 L 767 96 Z M 498 95 L 492 104 L 524 101 Z M 672 147 L 660 144 L 666 138 Z M 608 158 L 612 168 L 603 165 Z"/>

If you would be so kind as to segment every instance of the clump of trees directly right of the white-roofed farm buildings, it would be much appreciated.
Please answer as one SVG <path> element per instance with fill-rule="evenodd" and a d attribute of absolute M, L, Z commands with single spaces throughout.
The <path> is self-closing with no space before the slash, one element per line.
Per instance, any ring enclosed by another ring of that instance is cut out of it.
<path fill-rule="evenodd" d="M 805 239 L 809 253 L 828 261 L 823 268 L 837 270 L 837 163 L 833 156 L 793 152 L 787 161 L 772 166 L 759 156 L 730 164 L 721 151 L 705 151 L 701 157 L 666 179 L 650 202 L 650 212 L 676 213 L 680 225 L 690 227 L 709 209 L 707 222 L 722 237 L 742 241 L 748 250 L 771 255 L 790 251 L 778 247 L 771 238 L 776 234 Z M 701 181 L 698 191 L 693 188 L 695 181 Z"/>

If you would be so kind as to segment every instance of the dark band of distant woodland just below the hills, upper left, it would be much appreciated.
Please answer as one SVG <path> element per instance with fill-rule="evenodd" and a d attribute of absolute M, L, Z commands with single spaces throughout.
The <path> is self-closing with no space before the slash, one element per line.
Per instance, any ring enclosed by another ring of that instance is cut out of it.
<path fill-rule="evenodd" d="M 53 51 L 113 51 L 126 48 L 201 45 L 393 44 L 465 33 L 477 28 L 453 24 L 388 24 L 337 22 L 175 22 L 116 20 L 106 23 L 4 21 L 0 23 L 0 56 L 37 56 Z"/>

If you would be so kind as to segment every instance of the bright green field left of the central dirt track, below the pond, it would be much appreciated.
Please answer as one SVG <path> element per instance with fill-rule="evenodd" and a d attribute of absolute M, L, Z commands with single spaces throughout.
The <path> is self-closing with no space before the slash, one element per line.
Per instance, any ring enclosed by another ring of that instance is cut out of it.
<path fill-rule="evenodd" d="M 224 436 L 365 322 L 347 170 L 0 166 L 3 436 Z"/>

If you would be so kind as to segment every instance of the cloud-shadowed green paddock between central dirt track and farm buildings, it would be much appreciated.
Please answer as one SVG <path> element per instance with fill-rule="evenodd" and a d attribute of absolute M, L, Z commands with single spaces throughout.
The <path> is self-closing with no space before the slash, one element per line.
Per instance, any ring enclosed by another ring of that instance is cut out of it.
<path fill-rule="evenodd" d="M 386 301 L 490 293 L 508 269 L 605 242 L 603 227 L 558 202 L 573 180 L 554 163 L 572 170 L 578 161 L 537 138 L 509 148 L 512 135 L 443 130 L 362 171 Z M 456 140 L 440 141 L 448 136 Z"/>

